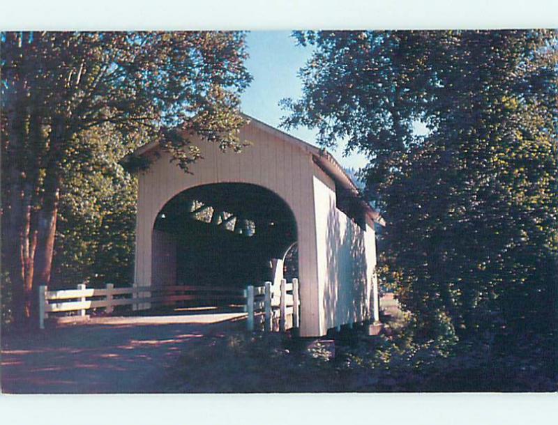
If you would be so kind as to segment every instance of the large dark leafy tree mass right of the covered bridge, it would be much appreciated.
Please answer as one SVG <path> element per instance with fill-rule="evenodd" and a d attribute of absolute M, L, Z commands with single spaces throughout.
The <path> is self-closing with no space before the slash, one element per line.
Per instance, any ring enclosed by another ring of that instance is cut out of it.
<path fill-rule="evenodd" d="M 319 31 L 286 127 L 368 154 L 384 277 L 425 338 L 557 319 L 556 31 Z M 417 123 L 428 127 L 416 131 Z"/>

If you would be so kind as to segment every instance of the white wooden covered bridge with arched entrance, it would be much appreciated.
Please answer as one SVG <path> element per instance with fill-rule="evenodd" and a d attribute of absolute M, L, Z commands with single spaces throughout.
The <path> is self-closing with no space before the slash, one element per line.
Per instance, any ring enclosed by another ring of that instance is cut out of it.
<path fill-rule="evenodd" d="M 303 337 L 377 320 L 381 217 L 329 153 L 248 118 L 241 153 L 193 140 L 191 173 L 157 143 L 133 154 L 153 161 L 138 176 L 135 284 L 246 287 L 279 272 L 299 279 Z"/>

